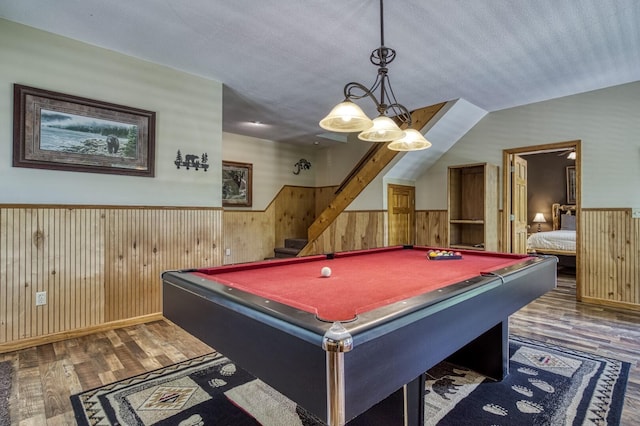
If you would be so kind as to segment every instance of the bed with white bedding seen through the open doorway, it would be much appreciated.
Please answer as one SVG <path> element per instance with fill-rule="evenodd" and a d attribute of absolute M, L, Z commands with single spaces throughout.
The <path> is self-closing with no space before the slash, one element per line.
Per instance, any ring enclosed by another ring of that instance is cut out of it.
<path fill-rule="evenodd" d="M 563 266 L 575 267 L 576 206 L 555 203 L 551 206 L 553 230 L 535 232 L 527 238 L 527 251 L 558 256 Z"/>

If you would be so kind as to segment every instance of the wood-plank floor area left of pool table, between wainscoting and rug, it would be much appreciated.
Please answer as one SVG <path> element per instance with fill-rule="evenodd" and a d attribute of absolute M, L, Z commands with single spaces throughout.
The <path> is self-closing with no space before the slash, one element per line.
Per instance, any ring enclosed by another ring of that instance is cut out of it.
<path fill-rule="evenodd" d="M 74 425 L 71 395 L 211 351 L 168 321 L 155 321 L 0 354 L 17 372 L 11 424 Z"/>

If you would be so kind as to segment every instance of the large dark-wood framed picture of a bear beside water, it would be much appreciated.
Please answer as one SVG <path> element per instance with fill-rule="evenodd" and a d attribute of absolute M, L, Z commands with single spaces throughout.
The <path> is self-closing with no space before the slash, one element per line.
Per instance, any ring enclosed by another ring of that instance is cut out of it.
<path fill-rule="evenodd" d="M 155 116 L 14 84 L 13 166 L 153 177 Z"/>

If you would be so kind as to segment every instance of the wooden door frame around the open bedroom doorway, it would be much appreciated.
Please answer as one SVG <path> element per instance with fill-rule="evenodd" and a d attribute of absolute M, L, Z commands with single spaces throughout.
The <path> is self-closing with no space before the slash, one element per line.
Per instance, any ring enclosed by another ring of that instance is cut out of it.
<path fill-rule="evenodd" d="M 582 210 L 582 141 L 572 140 L 565 142 L 555 142 L 543 145 L 524 146 L 520 148 L 505 149 L 502 151 L 502 251 L 511 252 L 511 165 L 509 158 L 512 154 L 527 155 L 543 152 L 562 151 L 574 149 L 576 152 L 576 298 L 582 298 L 582 287 L 580 285 L 582 267 L 580 262 L 580 218 Z"/>

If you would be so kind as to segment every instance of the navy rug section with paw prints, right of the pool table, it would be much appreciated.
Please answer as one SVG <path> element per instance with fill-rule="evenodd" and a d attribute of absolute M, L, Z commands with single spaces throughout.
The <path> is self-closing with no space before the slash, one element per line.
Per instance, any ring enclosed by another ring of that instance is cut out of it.
<path fill-rule="evenodd" d="M 502 382 L 446 362 L 429 370 L 428 424 L 620 423 L 628 363 L 514 336 L 509 352 Z"/>

